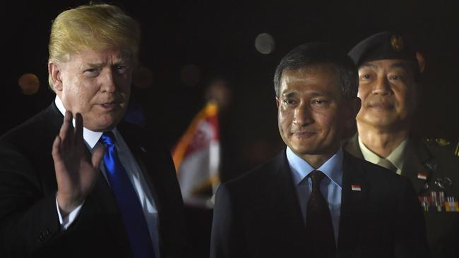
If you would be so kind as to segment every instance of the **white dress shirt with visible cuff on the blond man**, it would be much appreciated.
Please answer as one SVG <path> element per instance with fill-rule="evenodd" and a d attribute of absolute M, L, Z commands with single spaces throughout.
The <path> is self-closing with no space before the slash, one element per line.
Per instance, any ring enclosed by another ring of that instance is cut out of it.
<path fill-rule="evenodd" d="M 61 99 L 56 95 L 55 103 L 57 106 L 57 109 L 61 111 L 62 115 L 65 114 L 66 109 L 64 108 L 64 104 L 62 104 Z M 73 125 L 75 125 L 75 119 L 73 119 Z M 103 132 L 94 132 L 92 130 L 89 130 L 87 128 L 83 127 L 83 138 L 85 140 L 85 144 L 90 149 L 91 152 L 93 152 L 93 148 L 99 142 L 100 137 L 102 137 Z M 134 190 L 136 190 L 138 199 L 141 203 L 142 209 L 143 209 L 143 214 L 145 215 L 145 220 L 147 222 L 148 226 L 148 231 L 150 232 L 150 237 L 153 242 L 153 247 L 155 249 L 155 257 L 160 258 L 160 244 L 159 244 L 159 231 L 158 231 L 158 214 L 157 214 L 157 209 L 155 205 L 155 200 L 153 199 L 153 196 L 151 195 L 150 188 L 143 177 L 143 173 L 141 171 L 141 168 L 138 166 L 136 159 L 133 157 L 131 150 L 129 150 L 129 147 L 126 145 L 126 142 L 124 142 L 123 137 L 121 134 L 118 132 L 118 130 L 115 128 L 112 130 L 112 133 L 114 134 L 114 137 L 116 138 L 116 147 L 117 147 L 117 152 L 119 156 L 119 160 L 121 161 L 121 164 L 123 164 L 126 172 L 128 173 L 128 177 L 131 180 L 131 183 L 134 187 Z M 107 174 L 105 173 L 105 166 L 102 163 L 100 164 L 100 170 L 102 171 L 102 174 L 105 177 L 105 180 L 107 180 Z M 109 181 L 107 180 L 107 183 L 109 184 Z M 84 202 L 83 202 L 84 204 Z M 80 214 L 81 207 L 83 207 L 83 204 L 78 206 L 76 209 L 71 211 L 70 214 L 66 217 L 61 216 L 61 212 L 59 211 L 59 204 L 57 203 L 57 198 L 56 198 L 56 208 L 57 208 L 57 214 L 59 214 L 59 223 L 61 224 L 61 229 L 66 230 L 68 226 L 73 223 L 73 221 L 76 219 L 78 214 Z"/>

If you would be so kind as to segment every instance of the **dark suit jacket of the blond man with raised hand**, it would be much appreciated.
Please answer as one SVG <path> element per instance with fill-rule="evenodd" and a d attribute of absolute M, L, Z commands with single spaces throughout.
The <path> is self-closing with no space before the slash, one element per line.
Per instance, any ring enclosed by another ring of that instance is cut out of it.
<path fill-rule="evenodd" d="M 51 152 L 62 121 L 53 103 L 0 138 L 0 257 L 131 257 L 104 176 L 97 179 L 76 221 L 60 231 Z M 183 202 L 168 150 L 136 125 L 122 122 L 117 128 L 154 196 L 162 257 L 182 257 Z"/>

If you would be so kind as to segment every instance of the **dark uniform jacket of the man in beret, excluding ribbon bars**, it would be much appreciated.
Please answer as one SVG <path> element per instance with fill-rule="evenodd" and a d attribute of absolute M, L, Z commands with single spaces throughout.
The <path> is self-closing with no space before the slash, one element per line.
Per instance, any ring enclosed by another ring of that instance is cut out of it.
<path fill-rule="evenodd" d="M 357 135 L 345 141 L 344 146 L 353 156 L 364 159 Z M 417 178 L 419 172 L 425 173 L 427 178 Z M 453 155 L 452 149 L 441 147 L 436 142 L 410 139 L 402 176 L 410 179 L 419 196 L 429 195 L 430 190 L 435 190 L 438 178 L 450 178 L 453 185 L 446 188 L 446 195 L 459 198 L 459 157 Z M 459 212 L 428 211 L 424 212 L 424 217 L 432 256 L 459 257 Z"/>

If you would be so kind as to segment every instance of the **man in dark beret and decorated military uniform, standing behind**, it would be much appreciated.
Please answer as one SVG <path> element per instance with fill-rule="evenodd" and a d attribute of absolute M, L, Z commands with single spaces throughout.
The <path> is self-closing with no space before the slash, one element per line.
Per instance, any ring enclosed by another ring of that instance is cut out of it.
<path fill-rule="evenodd" d="M 459 159 L 443 147 L 447 143 L 412 133 L 420 94 L 415 50 L 401 35 L 380 32 L 349 56 L 359 68 L 362 108 L 357 134 L 345 141 L 345 149 L 410 178 L 424 209 L 431 253 L 459 257 Z"/>

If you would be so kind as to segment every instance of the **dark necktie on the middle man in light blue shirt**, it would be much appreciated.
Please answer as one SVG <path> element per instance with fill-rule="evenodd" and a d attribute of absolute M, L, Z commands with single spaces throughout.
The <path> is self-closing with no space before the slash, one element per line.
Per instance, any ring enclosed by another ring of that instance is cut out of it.
<path fill-rule="evenodd" d="M 321 171 L 312 171 L 312 191 L 306 208 L 306 233 L 312 243 L 314 257 L 329 258 L 336 256 L 335 233 L 331 223 L 328 203 L 320 190 L 321 180 L 325 177 Z"/>

